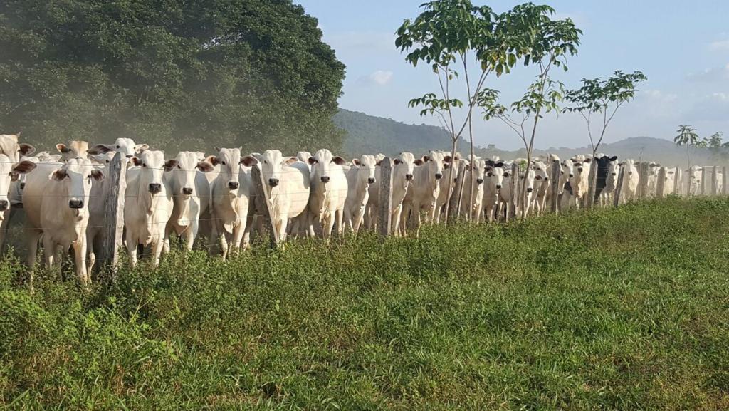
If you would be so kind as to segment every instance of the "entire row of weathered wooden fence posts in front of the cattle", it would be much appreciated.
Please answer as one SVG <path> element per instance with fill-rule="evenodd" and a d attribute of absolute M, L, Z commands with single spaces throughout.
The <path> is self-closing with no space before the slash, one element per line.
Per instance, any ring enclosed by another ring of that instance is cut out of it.
<path fill-rule="evenodd" d="M 106 207 L 106 220 L 105 220 L 105 228 L 104 228 L 104 246 L 100 250 L 100 255 L 97 257 L 98 261 L 100 261 L 102 264 L 106 264 L 107 266 L 111 266 L 112 269 L 115 269 L 117 266 L 117 263 L 119 261 L 119 254 L 122 250 L 122 232 L 124 229 L 124 193 L 126 190 L 126 169 L 127 169 L 127 159 L 124 158 L 120 153 L 117 153 L 114 155 L 114 158 L 109 163 L 109 166 L 106 169 L 106 183 L 108 183 L 111 187 L 114 187 L 115 189 L 109 190 L 109 199 L 106 201 L 105 207 Z M 447 220 L 448 222 L 455 221 L 458 216 L 461 214 L 461 211 L 464 207 L 464 182 L 466 180 L 466 167 L 465 167 L 466 161 L 461 160 L 461 163 L 458 167 L 458 174 L 456 177 L 456 184 L 453 188 L 453 193 L 451 194 L 451 197 L 448 201 L 448 216 Z M 392 204 L 392 171 L 393 171 L 393 161 L 391 158 L 386 157 L 381 161 L 381 179 L 379 181 L 380 183 L 380 199 L 379 204 L 380 207 L 378 209 L 378 232 L 381 234 L 382 237 L 389 236 L 393 232 L 392 227 L 392 221 L 391 221 L 391 204 Z M 637 199 L 642 200 L 646 199 L 648 196 L 648 176 L 650 174 L 650 164 L 642 163 L 639 164 L 638 167 L 639 170 L 639 185 L 637 190 Z M 690 179 L 687 179 L 687 183 L 685 184 L 685 187 L 682 187 L 682 170 L 679 167 L 676 167 L 674 169 L 674 190 L 673 193 L 679 194 L 681 196 L 691 196 L 691 182 Z M 717 194 L 717 181 L 718 181 L 718 166 L 704 166 L 701 169 L 701 185 L 699 186 L 699 195 L 705 196 L 705 195 L 712 195 L 716 196 Z M 513 176 L 510 178 L 510 189 L 512 193 L 518 193 L 518 184 L 519 184 L 519 166 L 518 164 L 512 164 L 511 167 L 511 175 Z M 667 169 L 666 167 L 660 167 L 660 170 L 658 172 L 657 182 L 656 182 L 656 192 L 655 196 L 657 198 L 663 198 L 665 197 L 666 193 L 666 184 L 665 184 L 665 177 L 666 177 Z M 706 191 L 706 177 L 707 175 L 711 174 L 711 188 L 709 191 Z M 263 210 L 263 218 L 265 219 L 264 226 L 268 228 L 268 231 L 270 233 L 270 245 L 271 247 L 275 247 L 278 245 L 279 239 L 278 239 L 278 232 L 273 226 L 273 222 L 270 219 L 270 201 L 268 201 L 268 193 L 265 192 L 265 182 L 262 181 L 262 175 L 260 174 L 260 170 L 257 168 L 257 166 L 254 166 L 252 168 L 252 180 L 254 181 L 255 190 L 257 191 L 257 194 L 260 196 L 263 196 L 265 203 L 265 207 Z M 548 210 L 550 210 L 553 213 L 559 213 L 561 212 L 561 194 L 560 194 L 560 187 L 559 187 L 559 181 L 561 177 L 561 163 L 558 160 L 553 161 L 552 167 L 551 167 L 551 174 L 550 174 L 550 204 L 548 205 Z M 590 174 L 588 176 L 588 194 L 587 198 L 583 202 L 582 206 L 585 208 L 591 208 L 593 207 L 593 201 L 594 201 L 594 193 L 596 191 L 596 177 L 597 177 L 597 167 L 590 167 Z M 620 167 L 620 172 L 617 175 L 617 183 L 615 185 L 615 191 L 612 199 L 612 205 L 614 207 L 617 207 L 620 204 L 621 196 L 623 196 L 623 180 L 625 180 L 625 167 Z M 679 193 L 679 189 L 683 188 L 683 192 Z M 728 175 L 727 175 L 727 167 L 722 167 L 722 195 L 727 195 L 729 191 L 728 188 Z M 507 214 L 505 215 L 506 220 L 509 220 L 510 218 L 516 218 L 518 215 L 516 214 L 516 210 L 518 209 L 517 206 L 523 207 L 523 201 L 526 199 L 521 198 L 522 196 L 513 195 L 510 204 L 508 207 Z M 471 210 L 468 210 L 469 213 Z"/>

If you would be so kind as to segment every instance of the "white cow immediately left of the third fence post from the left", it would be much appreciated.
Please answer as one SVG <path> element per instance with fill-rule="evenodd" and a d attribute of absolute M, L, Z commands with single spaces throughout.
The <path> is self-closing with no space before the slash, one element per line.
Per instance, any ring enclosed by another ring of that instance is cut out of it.
<path fill-rule="evenodd" d="M 377 182 L 374 155 L 362 155 L 352 160 L 347 172 L 347 200 L 344 203 L 344 222 L 356 234 L 364 218 L 365 207 L 370 200 L 370 185 Z"/>

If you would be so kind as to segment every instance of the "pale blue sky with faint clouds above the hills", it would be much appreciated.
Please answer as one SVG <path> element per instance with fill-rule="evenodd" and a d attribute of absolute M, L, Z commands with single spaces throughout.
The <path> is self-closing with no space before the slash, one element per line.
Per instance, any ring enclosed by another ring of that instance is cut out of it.
<path fill-rule="evenodd" d="M 324 41 L 347 66 L 340 107 L 405 123 L 437 125 L 407 107 L 408 100 L 435 91 L 426 67 L 414 69 L 394 47 L 394 31 L 413 18 L 424 0 L 295 0 L 319 19 Z M 519 1 L 521 2 L 521 1 Z M 538 2 L 538 1 L 537 1 Z M 517 1 L 491 1 L 504 11 Z M 680 123 L 698 128 L 701 136 L 727 131 L 729 138 L 729 1 L 577 1 L 555 0 L 558 18 L 572 18 L 584 32 L 568 72 L 555 80 L 574 87 L 583 77 L 605 77 L 616 69 L 642 70 L 648 81 L 636 99 L 618 112 L 606 142 L 626 137 L 670 139 Z M 509 103 L 523 93 L 536 72 L 518 66 L 488 87 L 502 91 Z M 475 141 L 503 148 L 521 146 L 506 126 L 478 120 Z M 539 127 L 537 147 L 582 147 L 587 144 L 579 115 L 549 116 Z"/>

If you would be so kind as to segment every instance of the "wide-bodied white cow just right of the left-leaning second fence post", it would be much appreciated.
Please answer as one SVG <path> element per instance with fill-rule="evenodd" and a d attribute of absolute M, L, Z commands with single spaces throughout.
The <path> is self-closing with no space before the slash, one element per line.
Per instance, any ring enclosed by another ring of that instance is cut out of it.
<path fill-rule="evenodd" d="M 279 242 L 286 240 L 289 219 L 299 217 L 308 207 L 311 185 L 308 166 L 296 157 L 284 157 L 278 150 L 265 150 L 258 158 L 246 155 L 243 164 L 257 165 L 261 170 L 273 229 Z"/>

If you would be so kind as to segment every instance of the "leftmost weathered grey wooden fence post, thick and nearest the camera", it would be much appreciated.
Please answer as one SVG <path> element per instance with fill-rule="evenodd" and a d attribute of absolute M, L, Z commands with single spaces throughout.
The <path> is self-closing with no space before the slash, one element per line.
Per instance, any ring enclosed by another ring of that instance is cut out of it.
<path fill-rule="evenodd" d="M 122 233 L 124 232 L 124 195 L 127 191 L 127 158 L 117 152 L 112 162 L 106 166 L 106 182 L 109 184 L 109 197 L 104 204 L 104 228 L 102 232 L 101 250 L 98 261 L 101 265 L 112 269 L 112 280 L 119 264 L 119 252 L 122 247 Z M 86 258 L 86 256 L 84 256 Z"/>

